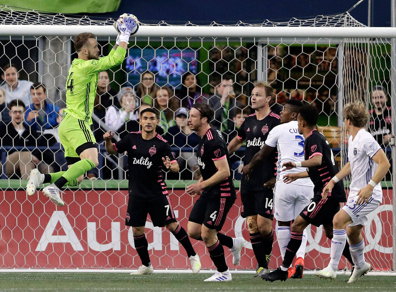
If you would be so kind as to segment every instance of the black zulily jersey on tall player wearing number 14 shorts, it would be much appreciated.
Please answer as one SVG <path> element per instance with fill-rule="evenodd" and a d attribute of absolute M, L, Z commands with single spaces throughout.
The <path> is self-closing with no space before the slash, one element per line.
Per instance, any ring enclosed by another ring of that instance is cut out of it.
<path fill-rule="evenodd" d="M 244 165 L 250 163 L 253 156 L 260 151 L 267 140 L 268 133 L 280 124 L 280 116 L 270 111 L 264 119 L 257 119 L 256 114 L 247 116 L 238 129 L 238 138 L 246 140 Z M 250 179 L 242 178 L 241 188 L 245 190 L 265 190 L 263 184 L 276 176 L 276 150 L 265 161 L 258 163 L 251 172 Z"/>

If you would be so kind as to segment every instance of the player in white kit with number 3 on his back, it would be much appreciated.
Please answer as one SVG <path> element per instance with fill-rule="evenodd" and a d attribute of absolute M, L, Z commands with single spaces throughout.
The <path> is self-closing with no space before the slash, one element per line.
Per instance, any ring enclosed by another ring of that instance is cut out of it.
<path fill-rule="evenodd" d="M 251 162 L 244 166 L 242 172 L 249 176 L 251 169 L 272 150 L 278 149 L 277 176 L 274 188 L 274 217 L 278 221 L 277 241 L 282 259 L 284 258 L 287 243 L 290 241 L 290 223 L 297 218 L 300 212 L 308 205 L 314 195 L 314 184 L 309 177 L 300 178 L 286 184 L 283 179 L 285 174 L 306 172 L 306 167 L 295 167 L 282 171 L 286 161 L 304 161 L 304 137 L 299 134 L 297 115 L 303 103 L 299 100 L 289 99 L 280 112 L 281 124 L 274 127 L 268 134 L 265 145 L 253 156 Z M 294 268 L 289 268 L 289 278 L 302 278 L 304 269 L 305 247 L 307 245 L 307 231 L 304 230 L 303 242 L 297 251 Z M 296 269 L 297 267 L 297 269 Z"/>

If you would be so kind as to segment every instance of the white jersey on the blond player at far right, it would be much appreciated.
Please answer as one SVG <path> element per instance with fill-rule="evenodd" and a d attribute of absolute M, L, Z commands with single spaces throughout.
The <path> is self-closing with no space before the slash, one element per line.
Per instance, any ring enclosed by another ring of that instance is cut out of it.
<path fill-rule="evenodd" d="M 373 160 L 373 156 L 380 149 L 381 146 L 365 129 L 359 130 L 353 140 L 352 136 L 349 137 L 348 160 L 352 176 L 349 186 L 349 197 L 357 195 L 359 190 L 366 187 L 371 178 L 373 178 L 378 167 L 378 163 Z M 381 183 L 374 187 L 371 197 L 382 202 Z"/>

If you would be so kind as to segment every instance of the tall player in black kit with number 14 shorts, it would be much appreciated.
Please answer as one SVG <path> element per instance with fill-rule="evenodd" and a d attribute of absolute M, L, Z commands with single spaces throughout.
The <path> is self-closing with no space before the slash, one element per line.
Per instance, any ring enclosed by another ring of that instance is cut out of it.
<path fill-rule="evenodd" d="M 247 116 L 238 130 L 238 134 L 228 144 L 228 152 L 234 153 L 246 140 L 244 165 L 250 163 L 253 156 L 264 146 L 269 131 L 280 124 L 280 116 L 273 113 L 270 101 L 274 90 L 267 82 L 255 82 L 251 92 L 251 107 L 255 114 Z M 255 277 L 268 273 L 268 262 L 272 253 L 274 230 L 272 229 L 273 198 L 272 189 L 264 186 L 275 177 L 275 150 L 266 161 L 256 165 L 249 178 L 242 178 L 240 192 L 242 214 L 246 218 L 250 241 L 256 256 L 258 269 Z"/>

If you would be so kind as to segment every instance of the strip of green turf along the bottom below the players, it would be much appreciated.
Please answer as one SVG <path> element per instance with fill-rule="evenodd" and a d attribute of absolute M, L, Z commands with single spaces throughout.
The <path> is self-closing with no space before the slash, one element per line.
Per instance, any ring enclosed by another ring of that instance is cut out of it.
<path fill-rule="evenodd" d="M 0 273 L 0 291 L 309 291 L 385 292 L 396 290 L 395 276 L 364 276 L 347 284 L 346 275 L 334 281 L 306 275 L 286 282 L 265 282 L 249 274 L 233 274 L 231 282 L 204 283 L 211 274 L 153 274 L 130 276 L 126 273 Z"/>

